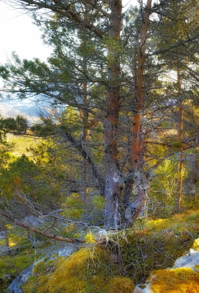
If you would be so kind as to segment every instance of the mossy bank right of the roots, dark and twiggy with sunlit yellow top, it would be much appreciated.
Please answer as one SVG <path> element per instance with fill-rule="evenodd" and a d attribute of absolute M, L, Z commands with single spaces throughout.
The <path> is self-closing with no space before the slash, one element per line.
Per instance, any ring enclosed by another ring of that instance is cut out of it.
<path fill-rule="evenodd" d="M 172 219 L 156 219 L 121 237 L 121 257 L 126 274 L 143 283 L 153 270 L 172 267 L 191 247 L 199 249 L 199 211 L 186 211 Z"/>

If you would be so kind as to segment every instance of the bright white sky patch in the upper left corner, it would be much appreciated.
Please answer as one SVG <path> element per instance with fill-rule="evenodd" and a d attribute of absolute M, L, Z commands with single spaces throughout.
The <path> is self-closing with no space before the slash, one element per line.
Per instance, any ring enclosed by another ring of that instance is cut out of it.
<path fill-rule="evenodd" d="M 0 63 L 16 51 L 21 59 L 34 57 L 45 61 L 51 48 L 41 40 L 41 31 L 24 11 L 16 10 L 0 1 Z"/>

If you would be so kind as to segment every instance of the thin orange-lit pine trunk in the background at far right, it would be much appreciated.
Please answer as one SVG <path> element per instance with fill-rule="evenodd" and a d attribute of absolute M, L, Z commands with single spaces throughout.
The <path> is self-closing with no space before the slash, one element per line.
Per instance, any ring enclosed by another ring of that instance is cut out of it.
<path fill-rule="evenodd" d="M 178 85 L 178 94 L 179 96 L 182 93 L 181 89 L 181 78 L 180 78 L 180 70 L 177 69 L 177 85 Z M 183 140 L 183 108 L 182 102 L 179 105 L 179 115 L 178 115 L 178 140 L 182 142 Z M 182 146 L 180 146 L 182 149 Z M 181 207 L 181 198 L 182 198 L 182 179 L 183 179 L 183 153 L 181 152 L 179 155 L 179 176 L 178 176 L 178 187 L 177 187 L 177 198 L 176 198 L 176 209 L 179 210 Z"/>

